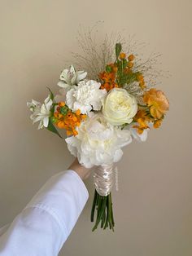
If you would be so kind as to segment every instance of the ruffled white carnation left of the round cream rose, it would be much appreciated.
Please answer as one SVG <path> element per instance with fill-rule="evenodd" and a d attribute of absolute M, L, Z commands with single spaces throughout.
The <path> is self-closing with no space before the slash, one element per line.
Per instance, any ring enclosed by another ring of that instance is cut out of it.
<path fill-rule="evenodd" d="M 72 111 L 81 110 L 82 114 L 88 114 L 92 109 L 102 108 L 102 99 L 107 95 L 107 90 L 100 90 L 101 84 L 94 80 L 81 81 L 78 86 L 68 90 L 66 103 Z"/>

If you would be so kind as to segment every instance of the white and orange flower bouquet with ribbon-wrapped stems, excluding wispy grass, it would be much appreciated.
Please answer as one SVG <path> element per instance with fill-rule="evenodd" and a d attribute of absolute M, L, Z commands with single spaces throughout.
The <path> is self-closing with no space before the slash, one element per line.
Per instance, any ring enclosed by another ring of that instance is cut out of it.
<path fill-rule="evenodd" d="M 60 95 L 52 91 L 41 104 L 28 103 L 33 123 L 59 135 L 67 131 L 68 150 L 82 166 L 94 166 L 93 231 L 101 224 L 114 230 L 111 201 L 113 163 L 120 161 L 122 148 L 137 139 L 145 141 L 151 127 L 158 128 L 168 111 L 168 99 L 161 90 L 147 85 L 143 65 L 135 64 L 132 52 L 114 45 L 114 60 L 105 63 L 98 78 L 89 79 L 73 65 L 60 74 Z M 61 135 L 59 135 L 61 137 Z"/>

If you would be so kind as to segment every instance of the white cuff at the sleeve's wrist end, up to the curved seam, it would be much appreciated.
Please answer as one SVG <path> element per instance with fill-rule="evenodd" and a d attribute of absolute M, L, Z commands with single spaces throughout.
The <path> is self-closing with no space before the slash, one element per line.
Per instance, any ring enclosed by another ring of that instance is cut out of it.
<path fill-rule="evenodd" d="M 83 210 L 89 193 L 74 170 L 52 176 L 25 207 L 46 210 L 68 236 Z"/>

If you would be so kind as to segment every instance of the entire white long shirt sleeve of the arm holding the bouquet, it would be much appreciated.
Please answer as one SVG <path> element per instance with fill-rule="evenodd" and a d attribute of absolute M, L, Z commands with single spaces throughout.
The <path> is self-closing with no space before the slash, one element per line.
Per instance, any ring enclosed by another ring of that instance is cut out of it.
<path fill-rule="evenodd" d="M 14 221 L 0 229 L 0 255 L 58 255 L 88 197 L 75 171 L 55 174 Z"/>

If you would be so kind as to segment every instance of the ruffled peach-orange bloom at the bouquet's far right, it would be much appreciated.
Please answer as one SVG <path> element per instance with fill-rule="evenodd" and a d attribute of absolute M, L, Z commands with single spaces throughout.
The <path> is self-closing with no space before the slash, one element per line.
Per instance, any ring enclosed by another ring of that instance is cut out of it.
<path fill-rule="evenodd" d="M 168 99 L 161 90 L 152 88 L 146 91 L 143 101 L 150 107 L 151 116 L 155 119 L 161 119 L 164 113 L 168 111 Z"/>

